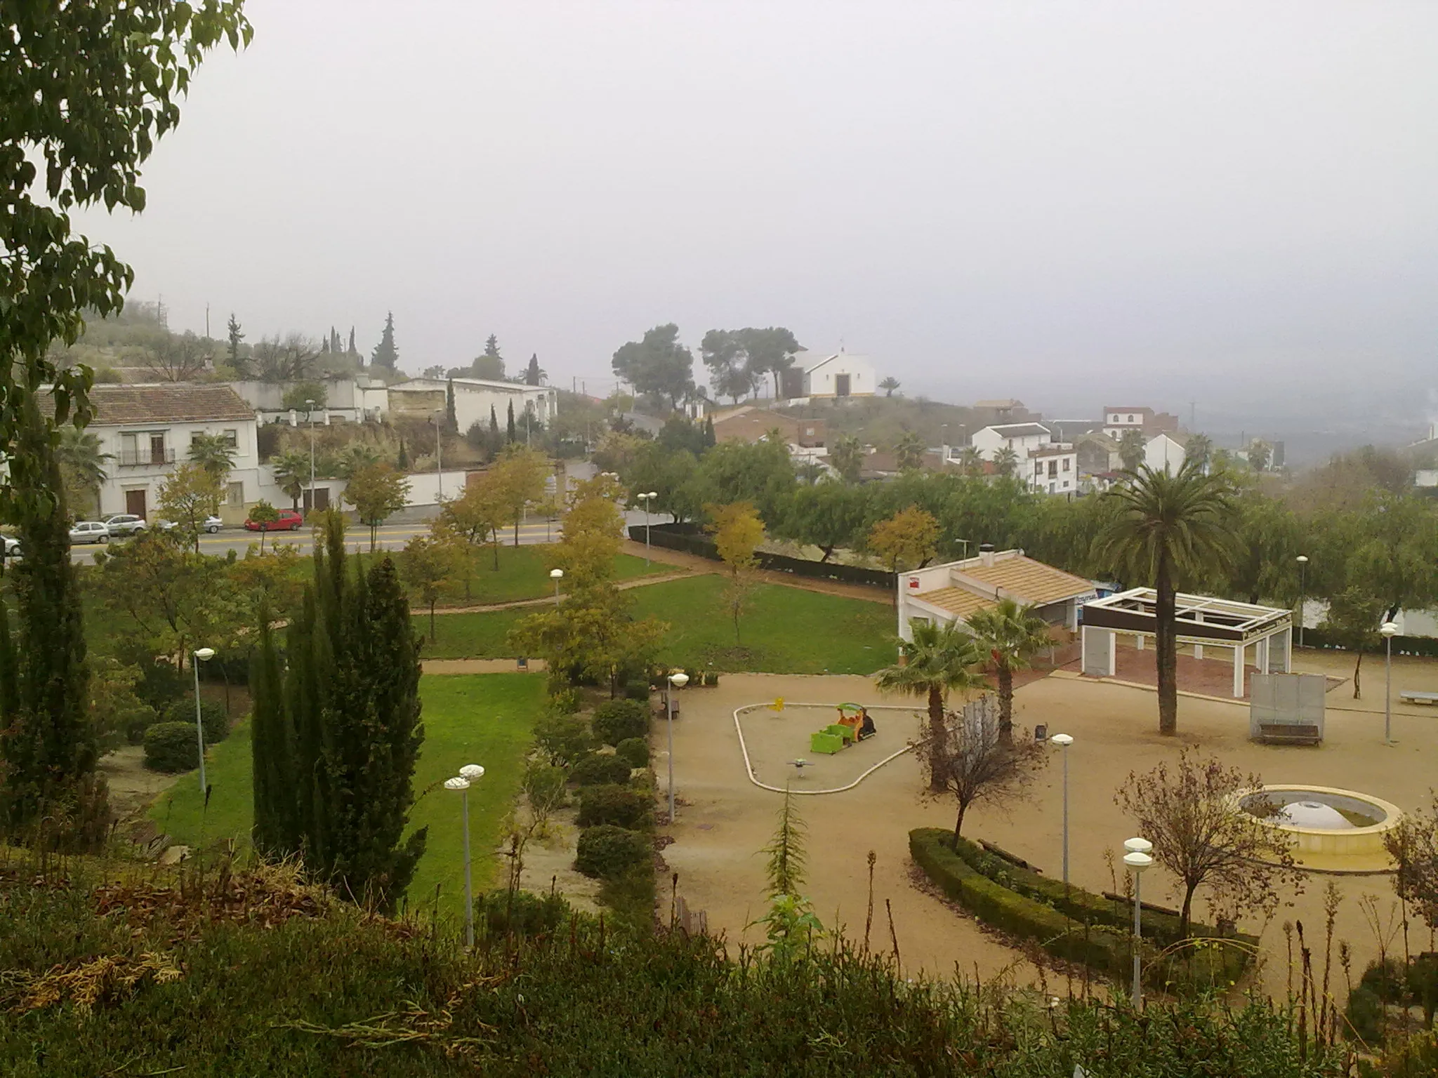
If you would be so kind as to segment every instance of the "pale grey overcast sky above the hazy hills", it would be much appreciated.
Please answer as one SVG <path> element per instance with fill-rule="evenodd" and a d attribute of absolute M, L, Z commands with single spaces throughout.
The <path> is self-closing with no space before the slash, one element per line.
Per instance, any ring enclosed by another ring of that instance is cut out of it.
<path fill-rule="evenodd" d="M 86 220 L 173 326 L 368 352 L 393 309 L 406 369 L 493 332 L 592 391 L 654 323 L 787 325 L 958 402 L 1432 407 L 1429 0 L 247 9 L 145 214 Z"/>

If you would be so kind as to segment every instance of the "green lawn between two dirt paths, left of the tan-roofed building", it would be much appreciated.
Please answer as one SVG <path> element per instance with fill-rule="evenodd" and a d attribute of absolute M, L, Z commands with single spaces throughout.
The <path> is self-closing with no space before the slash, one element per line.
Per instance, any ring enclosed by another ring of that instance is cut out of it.
<path fill-rule="evenodd" d="M 733 622 L 720 609 L 725 582 L 720 576 L 636 588 L 636 617 L 654 615 L 669 622 L 660 661 L 713 665 L 716 670 L 751 670 L 774 674 L 871 674 L 893 657 L 893 609 L 879 602 L 759 585 L 739 624 L 742 647 L 735 647 Z M 493 614 L 443 614 L 429 658 L 512 658 L 506 635 L 531 611 Z M 429 632 L 429 618 L 417 617 L 416 630 Z"/>

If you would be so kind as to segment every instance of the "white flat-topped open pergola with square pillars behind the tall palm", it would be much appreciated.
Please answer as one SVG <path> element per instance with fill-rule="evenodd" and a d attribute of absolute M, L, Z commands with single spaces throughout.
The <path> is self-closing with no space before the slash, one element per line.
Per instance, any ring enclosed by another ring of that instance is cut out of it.
<path fill-rule="evenodd" d="M 1250 647 L 1263 674 L 1286 674 L 1293 667 L 1293 611 L 1179 592 L 1175 621 L 1178 642 L 1192 644 L 1195 658 L 1204 657 L 1204 648 L 1232 650 L 1235 697 L 1244 694 Z M 1143 641 L 1156 635 L 1158 592 L 1153 588 L 1132 588 L 1083 605 L 1083 673 L 1114 676 L 1114 644 L 1120 632 L 1133 634 L 1140 651 Z"/>

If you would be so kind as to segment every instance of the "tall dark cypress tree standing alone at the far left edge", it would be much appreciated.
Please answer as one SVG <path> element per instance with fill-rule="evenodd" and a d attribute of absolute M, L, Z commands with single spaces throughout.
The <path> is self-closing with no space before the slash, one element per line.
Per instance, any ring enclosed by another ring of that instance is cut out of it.
<path fill-rule="evenodd" d="M 70 562 L 65 483 L 35 395 L 23 398 L 10 459 L 24 559 L 12 571 L 16 624 L 0 612 L 0 825 L 12 834 L 47 825 L 45 848 L 93 848 L 109 806 L 95 775 L 99 746 L 89 722 L 89 665 L 79 573 Z"/>

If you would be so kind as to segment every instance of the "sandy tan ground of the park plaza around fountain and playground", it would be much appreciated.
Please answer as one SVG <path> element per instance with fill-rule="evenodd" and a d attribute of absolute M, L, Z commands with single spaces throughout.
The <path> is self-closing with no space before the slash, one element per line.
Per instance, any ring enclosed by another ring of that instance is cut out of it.
<path fill-rule="evenodd" d="M 1395 661 L 1395 686 L 1398 686 Z M 1438 681 L 1438 664 L 1416 664 L 1412 681 Z M 1406 687 L 1406 684 L 1405 684 Z M 1330 700 L 1342 694 L 1330 693 Z M 1350 690 L 1349 690 L 1350 691 Z M 674 844 L 664 857 L 680 874 L 680 888 L 690 906 L 706 910 L 709 924 L 723 930 L 731 940 L 754 941 L 756 930 L 745 926 L 764 910 L 764 858 L 758 852 L 774 829 L 781 795 L 754 786 L 745 775 L 738 747 L 732 710 L 739 704 L 785 697 L 787 700 L 880 703 L 871 683 L 863 677 L 792 677 L 731 674 L 718 688 L 686 690 L 683 717 L 674 724 L 674 770 L 680 796 L 677 824 L 670 829 Z M 1380 690 L 1379 690 L 1380 697 Z M 1258 772 L 1268 782 L 1313 782 L 1368 791 L 1403 809 L 1428 803 L 1429 786 L 1438 783 L 1438 714 L 1431 709 L 1395 707 L 1396 747 L 1380 745 L 1382 714 L 1332 709 L 1327 716 L 1327 740 L 1317 747 L 1261 746 L 1248 742 L 1247 704 L 1183 699 L 1179 703 L 1178 739 L 1158 734 L 1158 709 L 1152 691 L 1102 681 L 1043 678 L 1021 688 L 1017 717 L 1022 726 L 1048 723 L 1050 732 L 1074 736 L 1070 749 L 1070 855 L 1074 883 L 1093 891 L 1112 890 L 1113 877 L 1104 861 L 1106 851 L 1122 854 L 1120 845 L 1133 834 L 1133 824 L 1113 803 L 1114 791 L 1130 770 L 1145 772 L 1159 762 L 1172 762 L 1185 745 L 1198 745 L 1217 753 L 1225 763 Z M 762 714 L 762 713 L 761 713 Z M 766 760 L 811 756 L 807 752 L 812 713 L 792 711 L 795 722 L 784 717 L 751 719 L 759 729 L 769 723 Z M 883 720 L 880 737 L 870 745 L 897 742 L 903 730 Z M 762 734 L 762 730 L 761 730 Z M 785 740 L 787 739 L 787 740 Z M 654 766 L 664 788 L 664 729 L 654 736 Z M 772 779 L 775 763 L 765 763 L 761 778 Z M 847 766 L 847 765 L 844 765 Z M 758 768 L 758 765 L 756 765 Z M 792 770 L 785 768 L 785 770 Z M 795 783 L 818 783 L 823 763 L 805 770 Z M 828 785 L 828 783 L 825 783 Z M 986 936 L 972 920 L 955 914 L 945 904 L 916 891 L 909 881 L 907 832 L 915 826 L 952 826 L 949 803 L 920 801 L 917 762 L 906 755 L 876 772 L 856 789 L 804 798 L 801 812 L 810 828 L 808 894 L 825 924 L 835 920 L 848 934 L 861 937 L 867 884 L 864 855 L 877 855 L 874 897 L 879 907 L 874 940 L 887 940 L 883 900 L 893 903 L 894 924 L 905 964 L 948 973 L 958 964 L 971 976 L 992 976 L 1018 960 L 1015 952 Z M 1061 770 L 1057 759 L 1034 783 L 1028 801 L 1011 811 L 978 805 L 965 821 L 965 834 L 986 838 L 1038 864 L 1057 875 L 1061 854 Z M 1281 908 L 1263 933 L 1265 952 L 1261 985 L 1283 993 L 1286 982 L 1284 920 L 1301 920 L 1309 946 L 1322 954 L 1323 891 L 1333 881 L 1343 904 L 1337 916 L 1337 940 L 1353 949 L 1353 976 L 1376 956 L 1376 941 L 1366 927 L 1357 900 L 1375 894 L 1379 908 L 1396 908 L 1389 877 L 1310 875 L 1306 891 L 1296 904 Z M 1156 901 L 1171 901 L 1171 881 L 1162 870 L 1145 880 L 1145 894 Z M 1199 911 L 1208 910 L 1199 903 Z M 1244 924 L 1257 931 L 1255 921 Z M 1401 937 L 1398 946 L 1402 946 Z M 1428 933 L 1416 921 L 1412 927 L 1415 950 L 1429 947 Z M 1322 972 L 1322 970 L 1320 970 Z M 1018 966 L 1021 979 L 1032 970 Z M 1342 982 L 1336 966 L 1333 980 Z"/>

